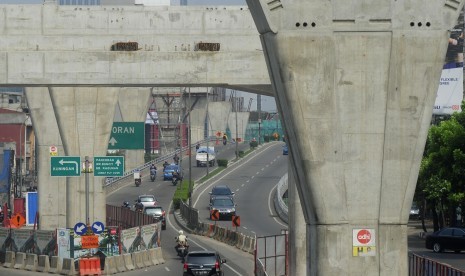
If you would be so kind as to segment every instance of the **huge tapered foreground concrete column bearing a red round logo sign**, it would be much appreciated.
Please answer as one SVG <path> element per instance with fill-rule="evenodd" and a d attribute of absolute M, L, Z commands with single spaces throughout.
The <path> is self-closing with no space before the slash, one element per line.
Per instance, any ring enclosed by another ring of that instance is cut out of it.
<path fill-rule="evenodd" d="M 308 275 L 407 275 L 409 208 L 464 0 L 247 3 L 284 115 Z"/>

